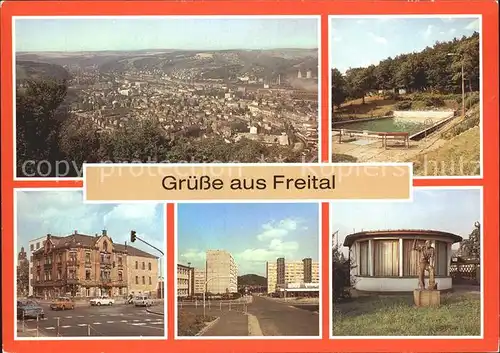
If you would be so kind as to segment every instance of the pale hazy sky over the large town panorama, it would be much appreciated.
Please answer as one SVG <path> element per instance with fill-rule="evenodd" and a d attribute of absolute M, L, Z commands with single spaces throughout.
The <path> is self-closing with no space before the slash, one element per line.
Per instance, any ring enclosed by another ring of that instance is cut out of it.
<path fill-rule="evenodd" d="M 316 19 L 17 19 L 15 50 L 317 48 Z"/>

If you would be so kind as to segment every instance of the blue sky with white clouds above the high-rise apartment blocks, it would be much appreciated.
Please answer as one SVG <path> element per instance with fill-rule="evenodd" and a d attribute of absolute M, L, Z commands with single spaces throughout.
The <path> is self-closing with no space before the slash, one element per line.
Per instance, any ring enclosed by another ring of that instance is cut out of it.
<path fill-rule="evenodd" d="M 319 256 L 319 206 L 304 203 L 180 204 L 177 262 L 205 267 L 206 250 L 226 250 L 239 275 L 266 276 L 266 261 Z"/>

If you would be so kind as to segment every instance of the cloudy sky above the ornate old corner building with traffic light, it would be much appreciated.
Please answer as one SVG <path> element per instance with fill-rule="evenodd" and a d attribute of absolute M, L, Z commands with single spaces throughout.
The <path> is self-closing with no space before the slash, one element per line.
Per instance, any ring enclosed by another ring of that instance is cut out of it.
<path fill-rule="evenodd" d="M 107 230 L 114 243 L 161 257 L 139 241 L 130 243 L 130 231 L 165 251 L 165 212 L 159 204 L 84 204 L 80 190 L 17 191 L 17 251 L 32 239 L 52 234 L 66 236 L 75 230 L 85 235 Z"/>

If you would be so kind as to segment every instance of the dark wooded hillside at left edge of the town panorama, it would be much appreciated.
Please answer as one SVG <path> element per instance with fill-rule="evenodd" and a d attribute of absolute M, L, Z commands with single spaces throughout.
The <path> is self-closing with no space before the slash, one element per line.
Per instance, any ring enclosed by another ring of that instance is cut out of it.
<path fill-rule="evenodd" d="M 60 65 L 36 61 L 16 61 L 16 81 L 51 79 L 56 81 L 68 80 L 70 74 Z"/>

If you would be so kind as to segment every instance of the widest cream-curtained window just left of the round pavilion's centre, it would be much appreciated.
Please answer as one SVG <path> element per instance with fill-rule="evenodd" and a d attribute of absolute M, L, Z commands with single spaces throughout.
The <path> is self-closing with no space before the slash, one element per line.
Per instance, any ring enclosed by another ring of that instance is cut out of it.
<path fill-rule="evenodd" d="M 399 240 L 375 240 L 373 245 L 374 275 L 377 277 L 398 277 Z"/>

